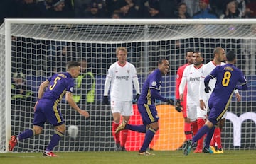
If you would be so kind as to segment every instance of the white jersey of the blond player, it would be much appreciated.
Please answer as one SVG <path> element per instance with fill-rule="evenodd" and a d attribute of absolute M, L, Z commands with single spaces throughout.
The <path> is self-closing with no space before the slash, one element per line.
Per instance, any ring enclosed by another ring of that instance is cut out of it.
<path fill-rule="evenodd" d="M 137 71 L 133 64 L 126 62 L 124 66 L 120 66 L 115 62 L 108 69 L 107 78 L 111 79 L 111 100 L 132 101 L 132 81 L 137 79 Z"/>

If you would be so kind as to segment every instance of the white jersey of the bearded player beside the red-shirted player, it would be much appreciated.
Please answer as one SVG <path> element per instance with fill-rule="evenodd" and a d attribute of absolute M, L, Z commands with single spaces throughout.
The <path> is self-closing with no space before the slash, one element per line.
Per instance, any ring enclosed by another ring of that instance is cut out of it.
<path fill-rule="evenodd" d="M 186 79 L 186 85 L 188 88 L 187 104 L 196 103 L 196 105 L 199 105 L 199 84 L 201 80 L 202 71 L 203 65 L 200 68 L 196 68 L 194 64 L 186 66 L 186 68 L 183 71 L 182 78 Z"/>

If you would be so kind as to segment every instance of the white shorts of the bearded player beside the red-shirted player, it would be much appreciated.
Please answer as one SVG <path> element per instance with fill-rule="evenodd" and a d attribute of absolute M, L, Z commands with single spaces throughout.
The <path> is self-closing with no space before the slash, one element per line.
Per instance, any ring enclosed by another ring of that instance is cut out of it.
<path fill-rule="evenodd" d="M 198 118 L 206 119 L 207 110 L 201 110 L 201 108 L 196 105 L 196 103 L 187 104 L 187 115 L 191 119 L 191 122 L 195 122 Z"/>

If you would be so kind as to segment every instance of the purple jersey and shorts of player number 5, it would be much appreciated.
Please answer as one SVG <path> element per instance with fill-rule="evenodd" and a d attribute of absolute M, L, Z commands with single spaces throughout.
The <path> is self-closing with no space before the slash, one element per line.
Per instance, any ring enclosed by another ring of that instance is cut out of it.
<path fill-rule="evenodd" d="M 33 124 L 43 127 L 48 120 L 53 126 L 64 124 L 58 104 L 66 92 L 73 92 L 74 79 L 68 73 L 54 74 L 47 79 L 50 83 L 36 105 Z"/>

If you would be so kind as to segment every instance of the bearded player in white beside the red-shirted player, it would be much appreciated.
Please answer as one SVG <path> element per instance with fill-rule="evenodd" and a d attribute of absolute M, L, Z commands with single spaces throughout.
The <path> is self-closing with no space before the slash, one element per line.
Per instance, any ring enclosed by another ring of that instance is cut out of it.
<path fill-rule="evenodd" d="M 192 124 L 197 124 L 197 128 L 203 127 L 206 122 L 206 110 L 201 110 L 199 105 L 199 84 L 203 71 L 203 57 L 201 52 L 193 53 L 193 64 L 187 66 L 183 71 L 181 84 L 179 87 L 180 98 L 183 100 L 183 91 L 187 84 L 187 115 Z M 196 126 L 193 126 L 196 128 Z M 197 131 L 197 130 L 193 130 Z M 194 134 L 195 135 L 195 134 Z M 198 140 L 195 153 L 202 153 L 203 138 Z"/>

